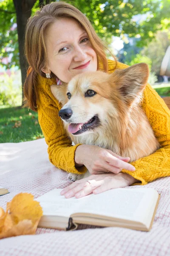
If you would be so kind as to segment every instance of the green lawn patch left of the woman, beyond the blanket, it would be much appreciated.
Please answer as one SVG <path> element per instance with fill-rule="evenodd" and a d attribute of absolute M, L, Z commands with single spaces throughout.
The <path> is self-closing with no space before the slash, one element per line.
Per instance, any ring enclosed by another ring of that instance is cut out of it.
<path fill-rule="evenodd" d="M 0 143 L 22 142 L 43 138 L 38 114 L 27 108 L 0 108 Z"/>

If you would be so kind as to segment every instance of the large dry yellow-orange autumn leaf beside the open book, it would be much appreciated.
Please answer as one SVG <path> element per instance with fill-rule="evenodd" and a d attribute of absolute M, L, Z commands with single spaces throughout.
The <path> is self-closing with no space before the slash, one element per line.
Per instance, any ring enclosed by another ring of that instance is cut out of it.
<path fill-rule="evenodd" d="M 40 203 L 34 196 L 20 193 L 7 203 L 6 212 L 0 207 L 0 239 L 35 234 L 42 216 Z"/>

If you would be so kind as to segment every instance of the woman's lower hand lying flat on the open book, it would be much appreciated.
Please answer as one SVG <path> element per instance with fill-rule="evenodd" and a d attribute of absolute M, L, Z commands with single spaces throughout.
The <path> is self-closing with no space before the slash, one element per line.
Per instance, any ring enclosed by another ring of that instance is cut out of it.
<path fill-rule="evenodd" d="M 139 182 L 127 173 L 91 175 L 82 180 L 77 180 L 61 191 L 65 198 L 81 198 L 91 193 L 99 194 L 109 189 L 123 188 Z"/>

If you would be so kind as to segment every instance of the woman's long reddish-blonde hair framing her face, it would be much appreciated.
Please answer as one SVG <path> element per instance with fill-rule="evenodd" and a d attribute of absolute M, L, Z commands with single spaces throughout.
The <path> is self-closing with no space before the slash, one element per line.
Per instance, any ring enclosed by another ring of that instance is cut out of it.
<path fill-rule="evenodd" d="M 97 62 L 102 61 L 103 70 L 108 71 L 108 61 L 105 55 L 105 47 L 96 34 L 88 18 L 74 6 L 65 2 L 54 2 L 45 5 L 41 11 L 37 11 L 30 17 L 26 26 L 25 51 L 31 72 L 29 72 L 23 91 L 25 94 L 25 106 L 37 111 L 37 81 L 38 76 L 45 77 L 42 69 L 47 67 L 47 49 L 45 46 L 45 32 L 56 19 L 61 17 L 74 18 L 85 29 L 89 40 L 97 55 Z M 52 73 L 52 76 L 55 75 Z"/>

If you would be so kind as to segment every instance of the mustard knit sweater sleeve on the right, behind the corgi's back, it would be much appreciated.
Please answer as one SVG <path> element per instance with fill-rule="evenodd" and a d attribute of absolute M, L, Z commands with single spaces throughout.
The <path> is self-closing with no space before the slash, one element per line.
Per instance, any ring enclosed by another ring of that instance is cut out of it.
<path fill-rule="evenodd" d="M 144 90 L 142 108 L 161 148 L 131 163 L 136 168 L 135 172 L 122 170 L 141 181 L 133 185 L 145 185 L 160 177 L 170 176 L 170 110 L 149 84 Z"/>

